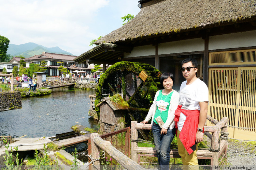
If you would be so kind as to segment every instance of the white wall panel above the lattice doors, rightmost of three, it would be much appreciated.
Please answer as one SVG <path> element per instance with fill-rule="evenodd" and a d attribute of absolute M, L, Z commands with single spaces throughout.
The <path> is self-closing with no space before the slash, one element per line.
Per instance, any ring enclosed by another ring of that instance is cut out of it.
<path fill-rule="evenodd" d="M 209 37 L 209 50 L 256 46 L 256 31 Z"/>

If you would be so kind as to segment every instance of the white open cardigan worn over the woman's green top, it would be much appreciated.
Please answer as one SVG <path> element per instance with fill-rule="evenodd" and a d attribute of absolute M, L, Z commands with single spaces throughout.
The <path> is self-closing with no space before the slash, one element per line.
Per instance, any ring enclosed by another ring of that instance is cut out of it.
<path fill-rule="evenodd" d="M 148 111 L 148 114 L 145 118 L 145 120 L 148 122 L 151 118 L 154 119 L 154 116 L 155 116 L 155 113 L 156 113 L 156 109 L 157 109 L 157 106 L 156 106 L 156 99 L 159 95 L 159 92 L 161 90 L 158 90 L 156 92 L 156 96 L 155 96 L 155 99 L 153 101 L 153 104 L 151 105 L 150 107 L 150 110 Z M 165 122 L 165 124 L 163 124 L 163 128 L 164 129 L 173 129 L 174 126 L 175 126 L 175 121 L 174 120 L 174 113 L 175 113 L 175 110 L 177 109 L 178 105 L 179 105 L 179 98 L 180 98 L 180 95 L 177 91 L 173 90 L 172 92 L 172 97 L 171 97 L 171 101 L 170 101 L 170 106 L 169 106 L 169 110 L 168 110 L 168 117 L 167 117 L 167 120 Z M 153 120 L 151 121 L 151 124 L 153 123 Z"/>

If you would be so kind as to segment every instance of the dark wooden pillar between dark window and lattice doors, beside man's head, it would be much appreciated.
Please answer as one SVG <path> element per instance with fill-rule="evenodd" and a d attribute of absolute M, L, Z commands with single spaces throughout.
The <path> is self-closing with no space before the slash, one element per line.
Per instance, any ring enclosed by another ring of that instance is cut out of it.
<path fill-rule="evenodd" d="M 203 82 L 208 86 L 208 65 L 209 65 L 209 36 L 204 38 L 204 54 L 203 54 Z"/>

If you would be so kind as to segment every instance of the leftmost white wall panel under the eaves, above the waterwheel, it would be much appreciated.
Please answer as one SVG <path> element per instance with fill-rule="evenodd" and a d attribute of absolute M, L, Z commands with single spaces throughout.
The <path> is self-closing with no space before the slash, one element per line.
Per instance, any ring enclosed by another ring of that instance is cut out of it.
<path fill-rule="evenodd" d="M 124 53 L 124 58 L 155 55 L 155 49 L 156 47 L 152 45 L 134 47 L 131 53 Z"/>

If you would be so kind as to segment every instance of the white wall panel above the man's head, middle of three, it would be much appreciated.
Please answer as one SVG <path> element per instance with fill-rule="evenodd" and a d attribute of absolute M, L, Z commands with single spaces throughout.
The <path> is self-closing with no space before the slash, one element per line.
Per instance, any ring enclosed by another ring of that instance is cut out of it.
<path fill-rule="evenodd" d="M 173 54 L 193 51 L 203 51 L 204 40 L 202 38 L 186 39 L 161 43 L 158 45 L 158 54 Z"/>

